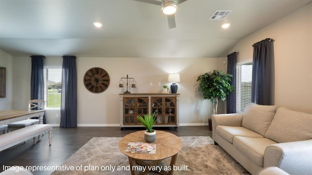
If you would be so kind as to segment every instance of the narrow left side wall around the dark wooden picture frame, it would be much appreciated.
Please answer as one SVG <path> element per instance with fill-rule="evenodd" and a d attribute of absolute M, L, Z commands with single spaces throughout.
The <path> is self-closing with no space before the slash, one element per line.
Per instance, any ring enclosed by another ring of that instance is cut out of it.
<path fill-rule="evenodd" d="M 6 68 L 6 96 L 0 98 L 0 110 L 12 108 L 12 56 L 0 50 L 0 67 Z"/>

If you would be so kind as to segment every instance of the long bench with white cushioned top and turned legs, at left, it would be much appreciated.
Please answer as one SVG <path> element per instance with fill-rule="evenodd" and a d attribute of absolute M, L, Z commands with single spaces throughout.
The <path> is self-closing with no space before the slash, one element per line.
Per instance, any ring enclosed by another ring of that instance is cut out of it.
<path fill-rule="evenodd" d="M 36 137 L 42 135 L 45 132 L 49 132 L 49 145 L 51 145 L 51 130 L 52 125 L 50 124 L 35 124 L 8 132 L 6 134 L 2 134 L 0 135 L 0 151 L 31 138 L 33 138 L 34 144 L 36 144 Z"/>

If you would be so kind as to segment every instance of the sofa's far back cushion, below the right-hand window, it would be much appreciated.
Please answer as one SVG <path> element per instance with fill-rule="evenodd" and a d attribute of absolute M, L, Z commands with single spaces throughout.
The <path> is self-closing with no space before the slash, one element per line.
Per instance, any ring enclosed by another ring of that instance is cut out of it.
<path fill-rule="evenodd" d="M 246 106 L 242 126 L 261 134 L 267 132 L 276 112 L 276 105 L 257 105 L 250 103 Z"/>

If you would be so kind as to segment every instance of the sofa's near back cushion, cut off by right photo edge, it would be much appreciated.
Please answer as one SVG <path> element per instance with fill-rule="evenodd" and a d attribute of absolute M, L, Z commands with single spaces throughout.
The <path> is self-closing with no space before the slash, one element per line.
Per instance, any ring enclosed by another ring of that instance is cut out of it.
<path fill-rule="evenodd" d="M 279 143 L 312 139 L 312 114 L 277 109 L 265 137 Z"/>

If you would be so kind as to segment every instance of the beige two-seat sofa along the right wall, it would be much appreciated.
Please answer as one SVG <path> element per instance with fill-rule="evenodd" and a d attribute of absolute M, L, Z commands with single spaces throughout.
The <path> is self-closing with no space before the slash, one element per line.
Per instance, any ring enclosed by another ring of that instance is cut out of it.
<path fill-rule="evenodd" d="M 244 113 L 212 116 L 213 139 L 252 175 L 275 166 L 311 175 L 312 114 L 276 105 L 247 105 Z"/>

